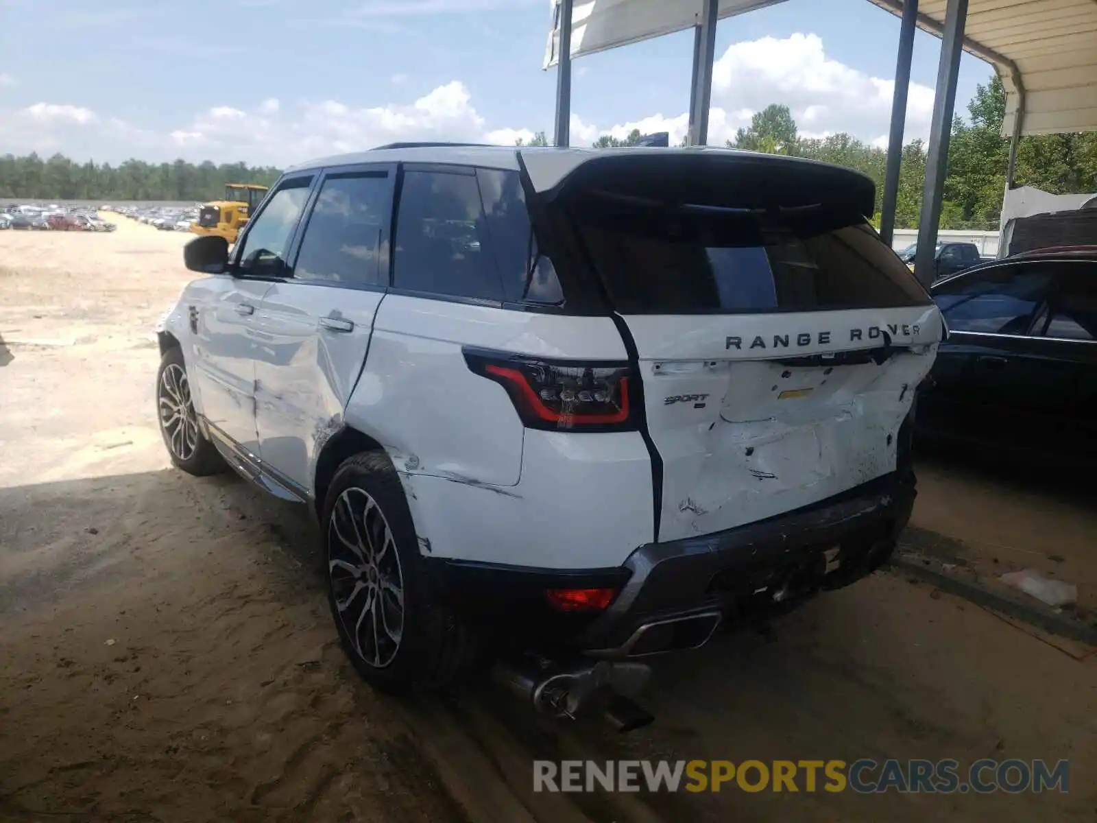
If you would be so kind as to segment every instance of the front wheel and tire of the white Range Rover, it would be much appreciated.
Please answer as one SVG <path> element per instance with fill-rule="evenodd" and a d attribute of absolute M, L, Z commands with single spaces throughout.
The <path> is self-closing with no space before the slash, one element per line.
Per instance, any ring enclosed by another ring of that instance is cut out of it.
<path fill-rule="evenodd" d="M 199 429 L 183 352 L 178 347 L 166 351 L 160 361 L 156 379 L 156 407 L 160 433 L 172 463 L 195 475 L 220 471 L 224 463 L 217 449 Z"/>

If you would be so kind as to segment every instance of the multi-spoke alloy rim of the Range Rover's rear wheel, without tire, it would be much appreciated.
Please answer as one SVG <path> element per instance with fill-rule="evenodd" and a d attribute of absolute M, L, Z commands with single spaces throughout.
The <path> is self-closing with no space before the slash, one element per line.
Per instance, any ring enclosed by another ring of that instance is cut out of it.
<path fill-rule="evenodd" d="M 404 635 L 404 575 L 388 521 L 364 489 L 348 488 L 331 509 L 328 575 L 355 653 L 385 668 Z"/>

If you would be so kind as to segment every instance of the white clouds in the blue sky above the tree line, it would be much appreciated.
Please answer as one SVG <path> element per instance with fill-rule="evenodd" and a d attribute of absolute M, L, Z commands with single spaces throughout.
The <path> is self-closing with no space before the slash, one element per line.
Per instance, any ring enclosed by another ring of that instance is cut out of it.
<path fill-rule="evenodd" d="M 410 4 L 444 4 L 453 10 L 496 1 L 410 0 Z M 369 8 L 371 13 L 377 13 L 386 3 L 388 0 L 371 3 L 359 11 Z M 407 93 L 402 90 L 409 88 L 408 78 L 393 75 L 391 80 L 393 87 L 386 87 L 391 93 Z M 734 137 L 737 128 L 749 124 L 754 112 L 769 103 L 783 103 L 792 110 L 805 137 L 849 132 L 874 145 L 885 145 L 881 135 L 887 132 L 892 86 L 891 80 L 873 78 L 828 58 L 815 35 L 736 43 L 715 63 L 709 142 L 722 145 Z M 418 99 L 389 101 L 363 104 L 268 98 L 247 108 L 217 104 L 169 122 L 156 132 L 79 105 L 41 102 L 26 109 L 0 110 L 0 145 L 23 154 L 61 150 L 77 159 L 94 156 L 111 162 L 131 156 L 149 160 L 181 156 L 195 161 L 285 166 L 397 140 L 512 145 L 519 138 L 532 139 L 536 128 L 547 124 L 488 123 L 477 111 L 468 88 L 459 80 L 438 86 Z M 550 108 L 545 101 L 545 109 Z M 932 90 L 912 84 L 907 140 L 926 135 L 931 109 Z M 645 134 L 669 132 L 675 145 L 686 135 L 688 120 L 682 110 L 641 110 L 635 119 L 620 123 L 587 120 L 577 112 L 572 115 L 572 144 L 589 146 L 600 134 L 621 138 L 638 128 Z"/>

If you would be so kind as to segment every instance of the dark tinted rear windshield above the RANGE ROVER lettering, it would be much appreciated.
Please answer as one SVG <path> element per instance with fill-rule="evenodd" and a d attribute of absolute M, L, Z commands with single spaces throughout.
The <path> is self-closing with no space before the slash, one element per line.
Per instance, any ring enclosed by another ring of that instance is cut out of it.
<path fill-rule="evenodd" d="M 846 208 L 674 208 L 584 196 L 570 205 L 623 314 L 812 312 L 929 303 L 862 217 Z"/>

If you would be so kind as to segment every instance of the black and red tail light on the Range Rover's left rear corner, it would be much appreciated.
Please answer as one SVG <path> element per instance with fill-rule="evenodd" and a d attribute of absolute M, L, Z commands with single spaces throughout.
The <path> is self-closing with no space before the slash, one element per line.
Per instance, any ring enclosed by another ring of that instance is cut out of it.
<path fill-rule="evenodd" d="M 531 429 L 631 431 L 636 429 L 640 380 L 627 363 L 547 361 L 465 350 L 468 368 L 507 390 Z"/>

